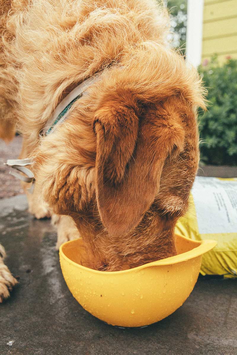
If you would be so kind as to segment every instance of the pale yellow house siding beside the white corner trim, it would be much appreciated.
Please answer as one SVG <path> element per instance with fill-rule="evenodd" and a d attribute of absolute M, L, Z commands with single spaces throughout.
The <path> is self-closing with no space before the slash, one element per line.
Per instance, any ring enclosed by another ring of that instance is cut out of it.
<path fill-rule="evenodd" d="M 237 58 L 237 0 L 205 0 L 202 60 Z"/>

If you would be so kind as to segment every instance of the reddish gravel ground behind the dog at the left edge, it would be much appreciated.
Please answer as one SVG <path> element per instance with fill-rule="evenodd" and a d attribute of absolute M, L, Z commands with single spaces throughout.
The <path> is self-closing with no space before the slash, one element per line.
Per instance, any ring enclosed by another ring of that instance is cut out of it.
<path fill-rule="evenodd" d="M 9 174 L 9 168 L 4 165 L 7 159 L 17 159 L 21 152 L 22 137 L 16 136 L 14 140 L 6 144 L 0 139 L 0 198 L 11 197 L 24 193 L 20 180 Z"/>

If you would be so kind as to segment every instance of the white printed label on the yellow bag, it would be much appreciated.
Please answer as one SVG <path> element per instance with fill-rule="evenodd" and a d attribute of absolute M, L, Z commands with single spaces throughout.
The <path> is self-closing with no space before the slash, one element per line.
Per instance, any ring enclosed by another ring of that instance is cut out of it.
<path fill-rule="evenodd" d="M 200 234 L 237 233 L 237 180 L 197 176 L 192 195 Z"/>

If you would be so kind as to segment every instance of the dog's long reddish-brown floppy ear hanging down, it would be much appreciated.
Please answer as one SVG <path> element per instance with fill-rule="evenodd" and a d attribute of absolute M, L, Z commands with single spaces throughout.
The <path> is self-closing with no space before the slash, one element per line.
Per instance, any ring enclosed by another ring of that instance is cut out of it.
<path fill-rule="evenodd" d="M 174 146 L 182 149 L 184 132 L 155 114 L 139 119 L 133 107 L 118 102 L 97 111 L 94 129 L 98 211 L 108 233 L 119 236 L 151 206 L 165 159 Z"/>

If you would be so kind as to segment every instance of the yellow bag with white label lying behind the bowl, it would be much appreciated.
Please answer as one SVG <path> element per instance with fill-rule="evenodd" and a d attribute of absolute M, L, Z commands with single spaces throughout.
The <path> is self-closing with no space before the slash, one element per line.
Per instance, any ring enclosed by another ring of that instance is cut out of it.
<path fill-rule="evenodd" d="M 178 220 L 176 233 L 217 241 L 202 257 L 202 275 L 237 277 L 237 178 L 197 176 L 188 212 Z"/>

